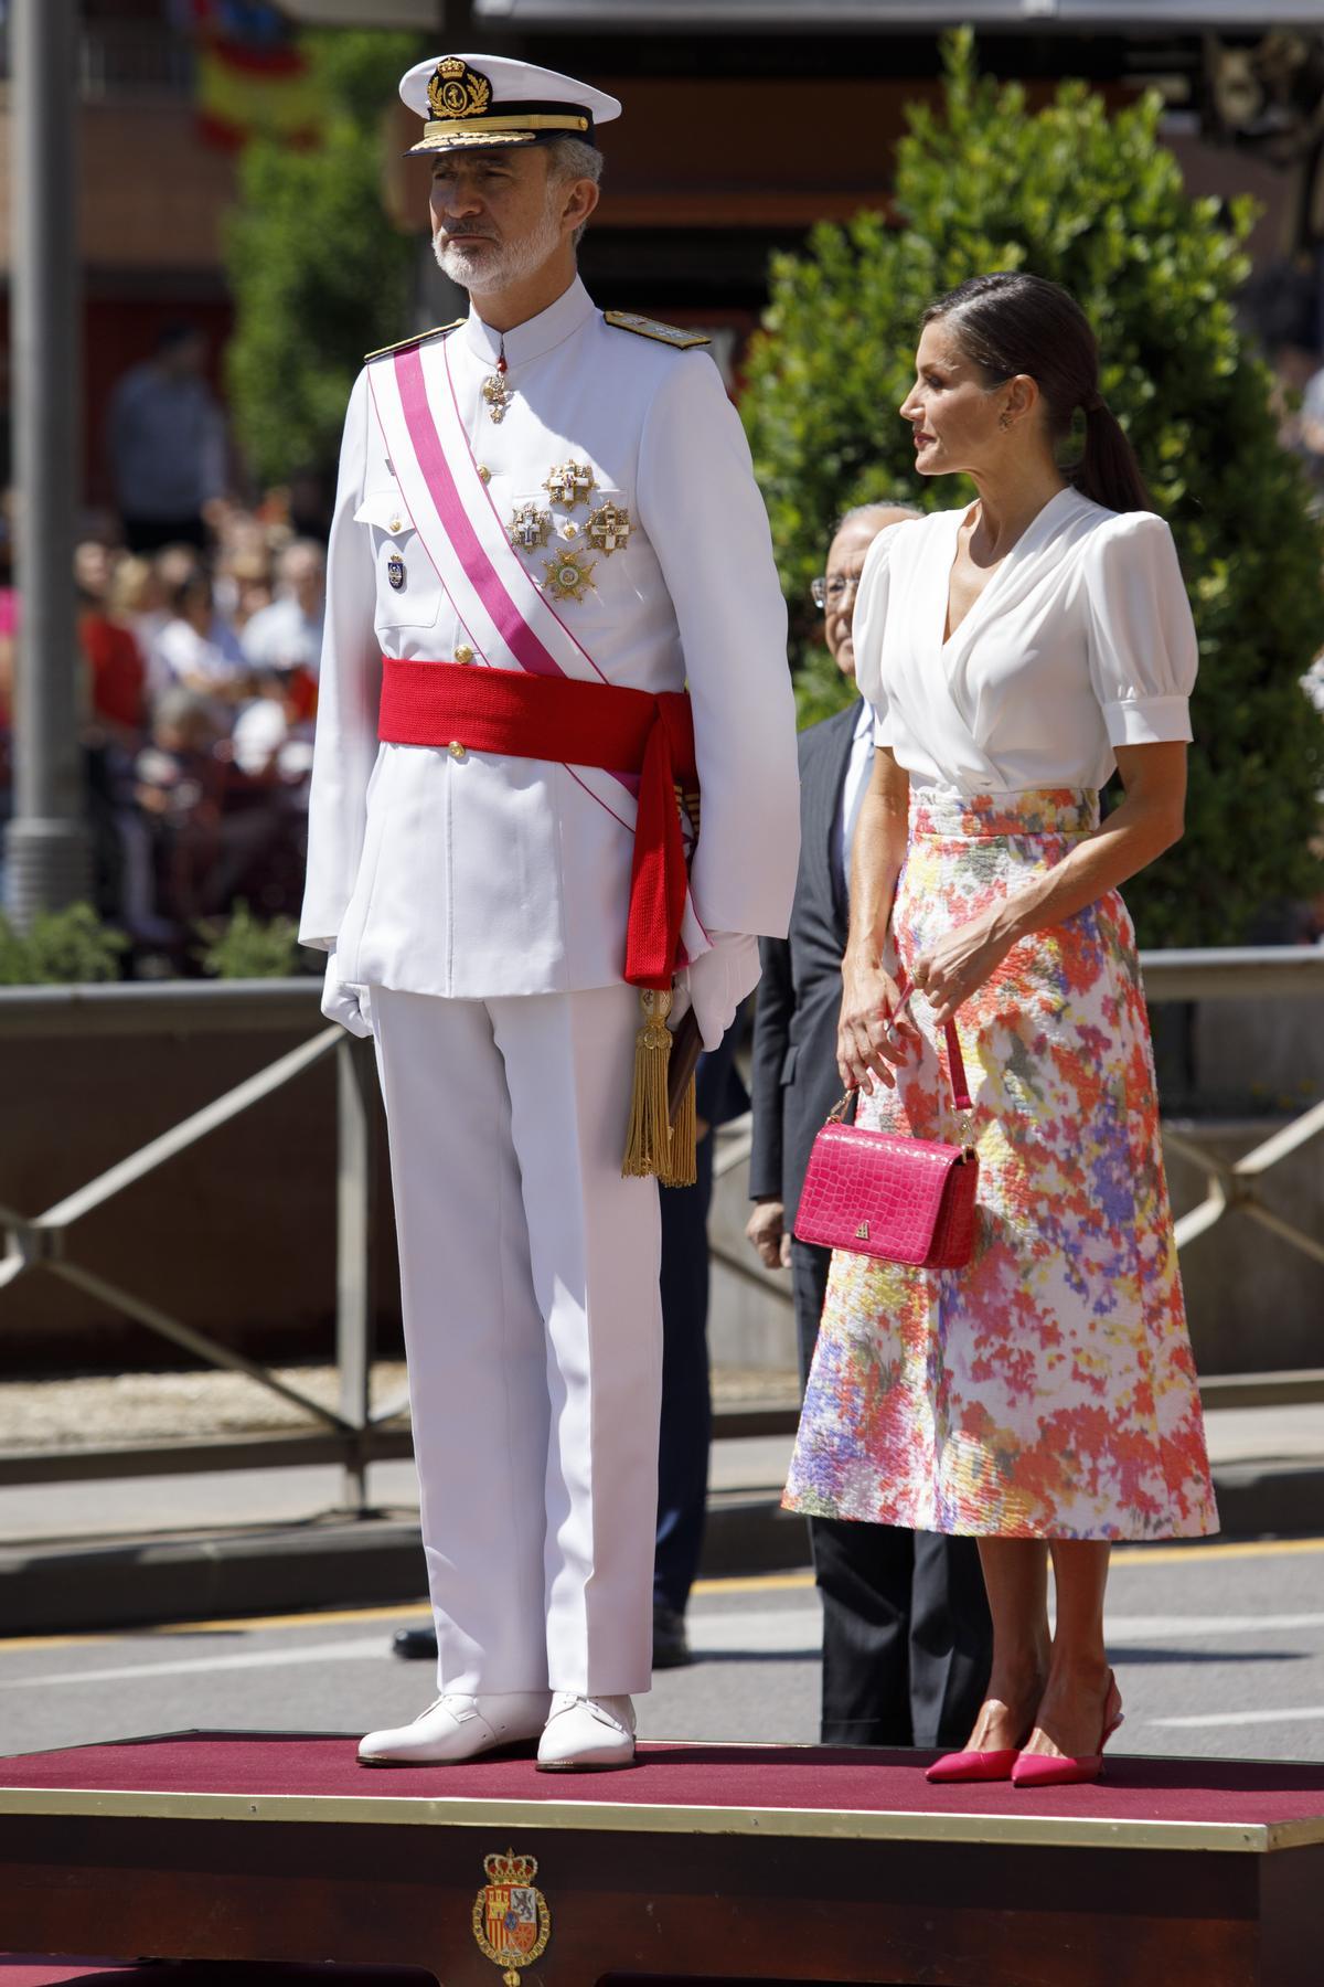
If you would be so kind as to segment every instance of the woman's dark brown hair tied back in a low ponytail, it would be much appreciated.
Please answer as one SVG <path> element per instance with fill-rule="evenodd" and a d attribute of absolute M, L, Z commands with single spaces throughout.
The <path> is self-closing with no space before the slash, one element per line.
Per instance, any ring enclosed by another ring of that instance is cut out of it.
<path fill-rule="evenodd" d="M 1020 270 L 971 276 L 923 314 L 923 324 L 947 322 L 957 344 L 1000 385 L 1028 374 L 1044 395 L 1048 433 L 1062 447 L 1080 407 L 1086 447 L 1064 475 L 1110 511 L 1151 511 L 1135 451 L 1100 393 L 1100 352 L 1084 310 L 1060 284 Z"/>

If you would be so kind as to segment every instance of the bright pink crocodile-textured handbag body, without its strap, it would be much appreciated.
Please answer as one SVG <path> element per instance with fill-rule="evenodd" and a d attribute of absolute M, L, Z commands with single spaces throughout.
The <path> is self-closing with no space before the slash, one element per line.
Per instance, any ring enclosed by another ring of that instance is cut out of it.
<path fill-rule="evenodd" d="M 804 1174 L 796 1240 L 921 1264 L 953 1166 L 965 1156 L 965 1146 L 935 1139 L 824 1125 Z"/>

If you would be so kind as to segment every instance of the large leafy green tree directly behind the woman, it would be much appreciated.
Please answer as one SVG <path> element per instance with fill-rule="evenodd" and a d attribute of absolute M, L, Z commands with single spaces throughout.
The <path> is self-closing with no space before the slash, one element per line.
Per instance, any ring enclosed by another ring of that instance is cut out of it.
<path fill-rule="evenodd" d="M 1300 676 L 1324 640 L 1324 538 L 1235 322 L 1251 205 L 1223 215 L 1189 199 L 1159 115 L 1147 97 L 1110 117 L 1074 81 L 1028 111 L 1018 85 L 979 77 L 969 32 L 951 36 L 943 107 L 915 109 L 897 153 L 901 227 L 863 213 L 774 260 L 744 411 L 794 660 L 822 709 L 808 582 L 836 515 L 869 497 L 941 509 L 973 495 L 915 477 L 897 419 L 923 306 L 994 268 L 1076 296 L 1173 527 L 1201 646 L 1187 837 L 1127 902 L 1143 944 L 1209 946 L 1243 940 L 1266 902 L 1320 888 L 1324 725 Z"/>

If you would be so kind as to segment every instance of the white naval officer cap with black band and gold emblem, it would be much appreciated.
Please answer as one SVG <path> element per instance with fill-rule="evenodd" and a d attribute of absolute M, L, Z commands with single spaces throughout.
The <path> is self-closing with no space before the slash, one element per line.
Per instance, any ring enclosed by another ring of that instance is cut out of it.
<path fill-rule="evenodd" d="M 578 137 L 621 115 L 615 97 L 574 76 L 538 70 L 510 56 L 439 56 L 401 76 L 399 93 L 423 117 L 423 137 L 409 153 L 474 151 L 482 145 L 538 145 Z"/>

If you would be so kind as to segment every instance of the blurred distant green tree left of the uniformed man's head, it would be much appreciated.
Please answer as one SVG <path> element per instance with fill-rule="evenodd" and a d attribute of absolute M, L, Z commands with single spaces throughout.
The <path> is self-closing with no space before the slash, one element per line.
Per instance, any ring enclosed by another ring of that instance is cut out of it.
<path fill-rule="evenodd" d="M 409 34 L 308 36 L 324 107 L 316 145 L 256 139 L 226 229 L 238 441 L 264 483 L 335 467 L 365 352 L 407 330 L 413 244 L 381 207 L 385 107 L 419 58 Z"/>

